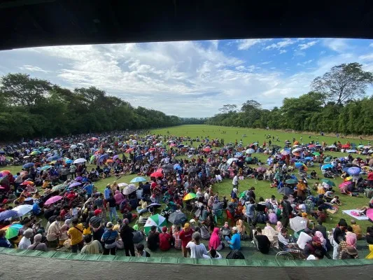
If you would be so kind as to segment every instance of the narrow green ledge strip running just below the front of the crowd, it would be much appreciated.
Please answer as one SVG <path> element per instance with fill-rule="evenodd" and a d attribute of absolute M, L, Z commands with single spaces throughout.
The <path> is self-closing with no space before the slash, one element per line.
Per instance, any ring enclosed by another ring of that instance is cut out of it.
<path fill-rule="evenodd" d="M 218 265 L 218 266 L 249 266 L 249 267 L 336 267 L 349 265 L 373 265 L 373 260 L 329 260 L 323 259 L 318 261 L 304 260 L 208 260 L 192 258 L 136 258 L 125 257 L 120 255 L 80 255 L 76 253 L 63 253 L 58 251 L 34 251 L 0 248 L 0 254 L 3 255 L 20 255 L 36 258 L 57 258 L 65 260 L 91 260 L 91 261 L 117 261 L 117 262 L 151 262 L 163 264 L 183 264 L 183 265 Z"/>

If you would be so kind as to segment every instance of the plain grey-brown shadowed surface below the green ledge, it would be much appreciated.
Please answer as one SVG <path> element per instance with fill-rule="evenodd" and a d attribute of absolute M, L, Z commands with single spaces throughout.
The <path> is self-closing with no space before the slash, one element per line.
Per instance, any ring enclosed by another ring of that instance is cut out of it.
<path fill-rule="evenodd" d="M 351 267 L 211 267 L 92 262 L 3 255 L 0 279 L 372 279 L 373 265 Z"/>

